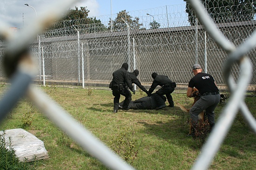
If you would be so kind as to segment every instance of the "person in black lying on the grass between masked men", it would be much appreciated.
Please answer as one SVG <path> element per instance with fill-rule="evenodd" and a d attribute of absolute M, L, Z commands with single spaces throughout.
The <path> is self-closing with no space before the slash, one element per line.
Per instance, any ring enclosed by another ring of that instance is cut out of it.
<path fill-rule="evenodd" d="M 131 101 L 129 103 L 129 107 L 128 109 L 155 109 L 157 106 L 157 102 L 155 100 L 155 96 L 158 96 L 157 94 L 153 93 L 150 96 L 144 96 L 141 97 L 140 99 L 137 99 L 135 101 Z M 162 100 L 165 102 L 166 101 L 166 97 L 165 96 L 161 96 Z M 119 107 L 122 107 L 123 101 L 120 103 Z"/>

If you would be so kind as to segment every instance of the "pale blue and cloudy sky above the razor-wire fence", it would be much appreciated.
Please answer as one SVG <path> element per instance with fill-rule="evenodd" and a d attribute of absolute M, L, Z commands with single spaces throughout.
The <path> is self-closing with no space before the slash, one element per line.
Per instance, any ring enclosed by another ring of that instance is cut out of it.
<path fill-rule="evenodd" d="M 36 15 L 45 12 L 52 4 L 53 0 L 0 0 L 0 23 L 4 22 L 9 27 L 22 28 L 24 25 L 36 19 Z M 119 13 L 122 10 L 137 11 L 151 9 L 168 5 L 185 4 L 183 0 L 80 0 L 70 9 L 75 6 L 80 9 L 84 6 L 90 12 L 89 17 L 110 15 L 112 2 L 112 14 Z M 24 4 L 28 4 L 26 6 Z"/>

